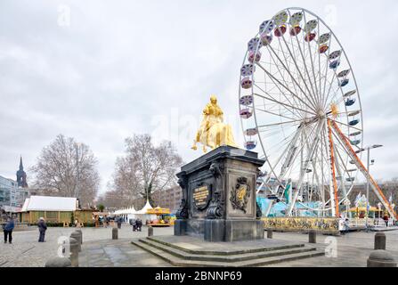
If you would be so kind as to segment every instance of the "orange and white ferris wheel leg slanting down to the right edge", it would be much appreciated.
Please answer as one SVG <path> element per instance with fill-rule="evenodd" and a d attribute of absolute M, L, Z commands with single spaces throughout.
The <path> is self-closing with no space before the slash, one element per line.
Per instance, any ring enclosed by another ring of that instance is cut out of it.
<path fill-rule="evenodd" d="M 388 213 L 390 216 L 394 216 L 395 220 L 398 220 L 397 214 L 394 212 L 394 208 L 391 207 L 391 204 L 388 202 L 386 199 L 386 196 L 384 195 L 383 191 L 378 187 L 378 183 L 373 179 L 373 177 L 370 175 L 368 169 L 363 165 L 361 162 L 361 159 L 358 158 L 356 155 L 355 151 L 353 151 L 353 148 L 348 141 L 348 139 L 345 137 L 345 134 L 343 134 L 340 130 L 340 128 L 337 126 L 336 122 L 332 121 L 331 126 L 333 129 L 336 131 L 337 136 L 340 138 L 340 140 L 343 142 L 343 145 L 345 146 L 345 151 L 348 152 L 349 156 L 353 161 L 355 162 L 356 167 L 358 167 L 361 170 L 361 173 L 365 176 L 365 178 L 370 182 L 370 185 L 372 187 L 372 190 L 375 192 L 376 196 L 378 199 L 381 201 L 383 206 L 387 209 Z"/>

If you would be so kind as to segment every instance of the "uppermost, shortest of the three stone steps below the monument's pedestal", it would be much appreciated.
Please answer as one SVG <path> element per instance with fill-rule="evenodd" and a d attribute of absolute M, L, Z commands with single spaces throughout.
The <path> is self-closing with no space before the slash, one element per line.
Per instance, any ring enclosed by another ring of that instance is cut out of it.
<path fill-rule="evenodd" d="M 146 240 L 157 242 L 161 245 L 175 248 L 178 250 L 185 251 L 190 254 L 196 255 L 209 255 L 209 256 L 235 256 L 240 254 L 248 254 L 248 253 L 256 253 L 256 252 L 264 252 L 264 251 L 272 251 L 272 250 L 280 250 L 280 249 L 289 249 L 289 248 L 304 248 L 304 243 L 295 243 L 295 244 L 288 244 L 288 245 L 280 245 L 280 246 L 268 246 L 268 247 L 258 247 L 258 248 L 246 248 L 240 250 L 229 250 L 229 251 L 222 251 L 222 250 L 200 250 L 200 249 L 191 249 L 191 248 L 183 248 L 181 246 L 175 245 L 171 242 L 167 242 L 164 240 L 158 240 L 154 237 L 147 237 Z"/>

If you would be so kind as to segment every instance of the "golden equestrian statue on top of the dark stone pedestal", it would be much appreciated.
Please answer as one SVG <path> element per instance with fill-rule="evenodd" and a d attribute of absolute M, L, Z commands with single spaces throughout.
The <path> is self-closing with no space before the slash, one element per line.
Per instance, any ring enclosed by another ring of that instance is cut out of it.
<path fill-rule="evenodd" d="M 203 119 L 193 141 L 192 150 L 198 150 L 198 142 L 203 144 L 204 152 L 207 152 L 207 147 L 212 150 L 222 145 L 238 147 L 233 139 L 231 126 L 223 123 L 223 110 L 217 105 L 215 95 L 210 97 L 210 102 L 203 110 Z"/>

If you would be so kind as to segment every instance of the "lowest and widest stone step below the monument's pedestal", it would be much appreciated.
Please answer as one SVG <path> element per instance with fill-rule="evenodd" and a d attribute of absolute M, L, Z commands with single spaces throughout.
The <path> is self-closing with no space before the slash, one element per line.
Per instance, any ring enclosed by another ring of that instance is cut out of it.
<path fill-rule="evenodd" d="M 245 266 L 254 267 L 262 265 L 272 265 L 280 262 L 309 258 L 313 256 L 323 256 L 325 254 L 323 251 L 312 250 L 312 251 L 300 252 L 290 255 L 263 257 L 263 258 L 251 259 L 246 261 L 219 262 L 219 261 L 203 261 L 203 260 L 185 260 L 177 256 L 174 256 L 170 253 L 167 253 L 162 249 L 154 248 L 140 240 L 134 240 L 132 241 L 132 244 L 134 244 L 139 248 L 142 248 L 143 250 L 150 252 L 154 256 L 158 256 L 159 258 L 166 260 L 171 265 L 183 266 L 183 267 L 245 267 Z"/>

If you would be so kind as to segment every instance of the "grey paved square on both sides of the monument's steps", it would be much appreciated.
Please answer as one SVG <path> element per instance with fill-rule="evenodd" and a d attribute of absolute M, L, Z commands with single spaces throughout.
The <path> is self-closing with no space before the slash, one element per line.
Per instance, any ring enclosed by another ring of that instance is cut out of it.
<path fill-rule="evenodd" d="M 12 244 L 0 243 L 0 266 L 44 266 L 45 261 L 57 255 L 58 238 L 69 237 L 75 228 L 49 228 L 46 242 L 37 242 L 38 231 L 13 232 Z M 79 254 L 80 266 L 171 266 L 162 259 L 137 248 L 130 243 L 132 238 L 147 235 L 132 232 L 128 225 L 118 231 L 118 240 L 111 240 L 111 228 L 83 228 L 83 246 Z M 386 249 L 398 260 L 398 231 L 385 232 Z M 173 227 L 155 228 L 155 235 L 171 235 Z M 336 241 L 337 257 L 318 256 L 272 266 L 366 266 L 366 260 L 373 250 L 375 232 L 350 232 L 340 237 L 317 236 L 316 247 L 325 250 L 330 240 Z M 308 235 L 302 233 L 273 232 L 273 239 L 307 242 Z M 326 243 L 326 241 L 328 241 Z"/>

